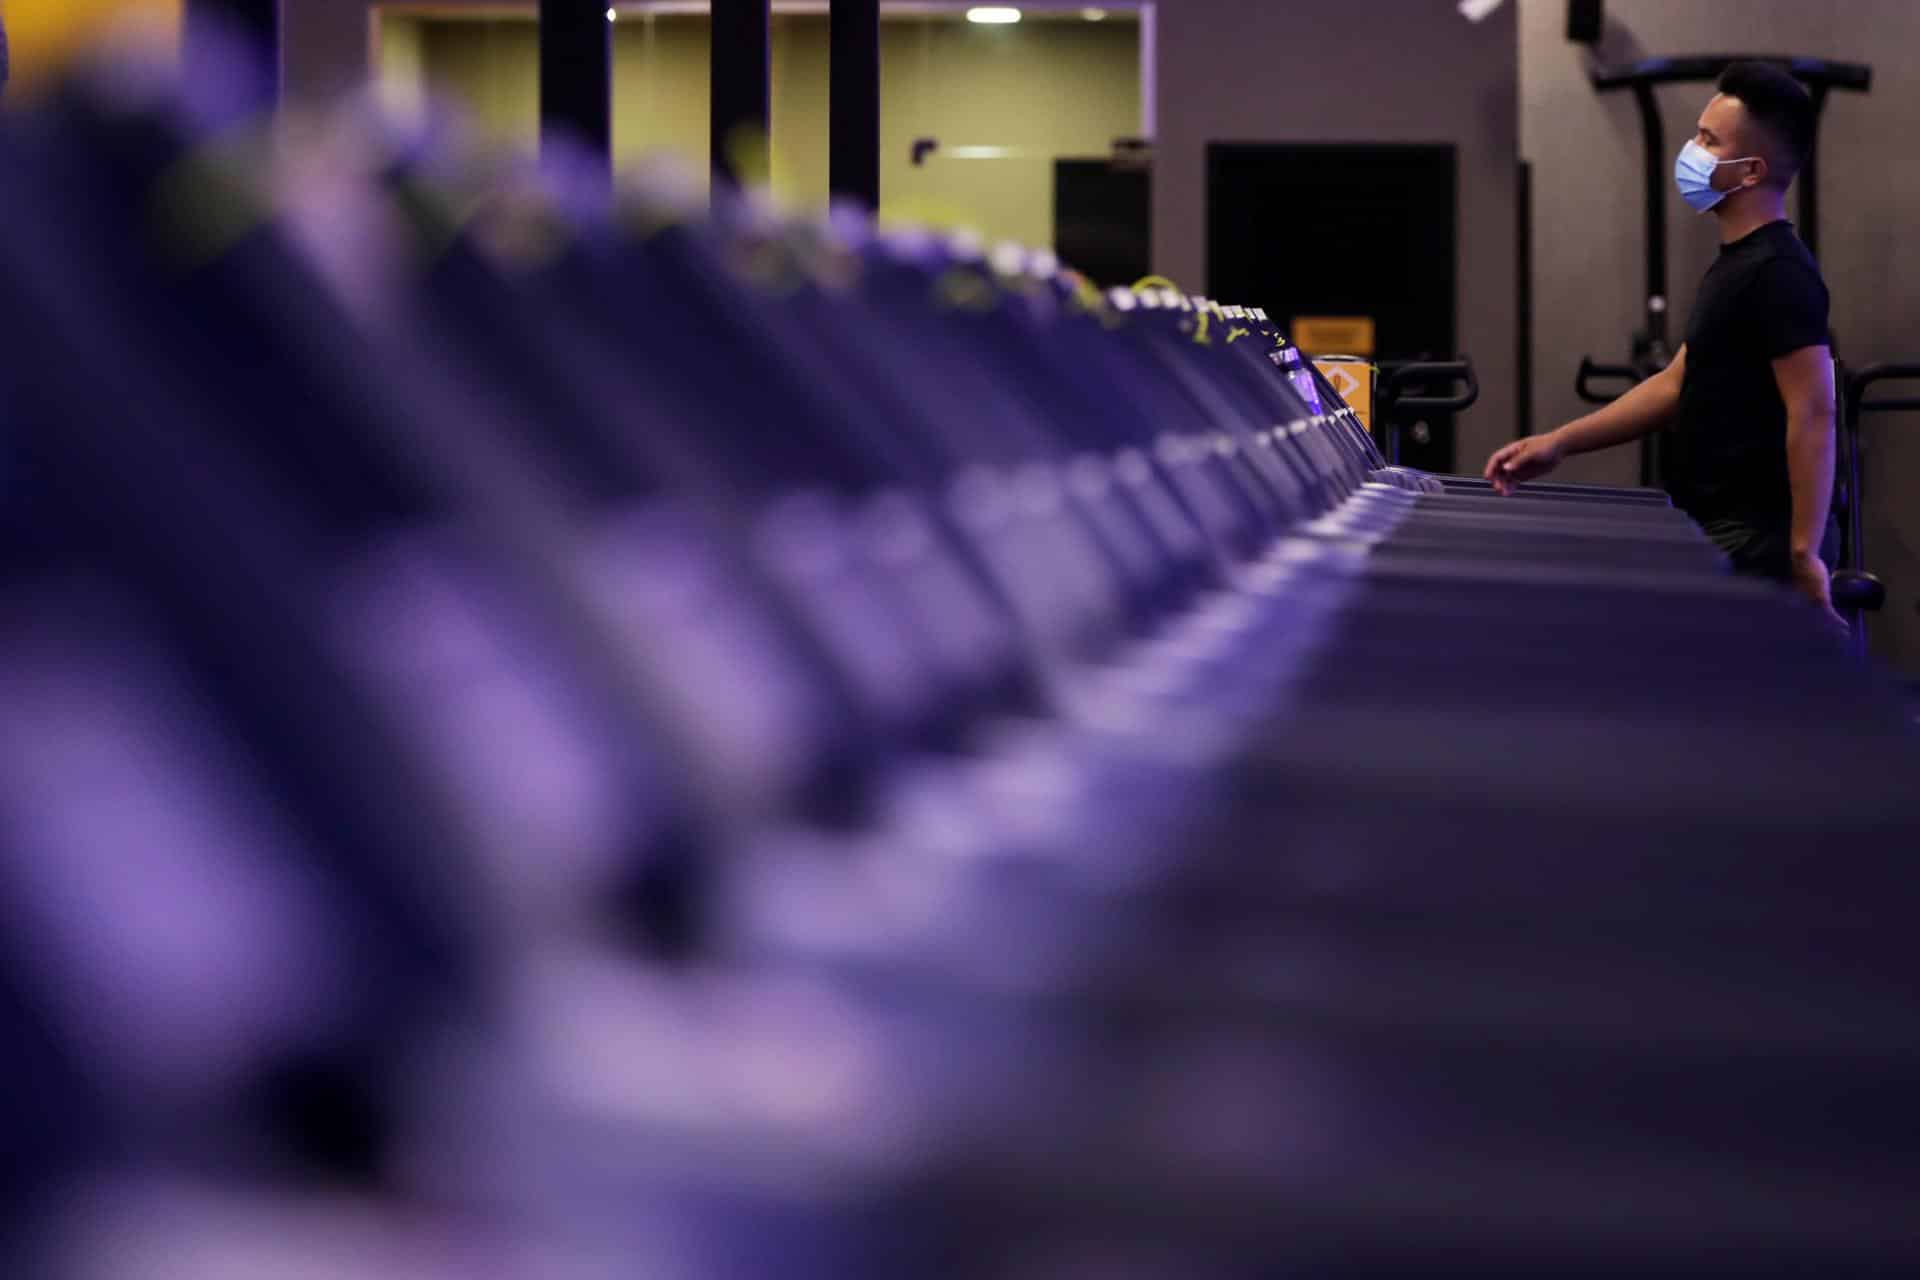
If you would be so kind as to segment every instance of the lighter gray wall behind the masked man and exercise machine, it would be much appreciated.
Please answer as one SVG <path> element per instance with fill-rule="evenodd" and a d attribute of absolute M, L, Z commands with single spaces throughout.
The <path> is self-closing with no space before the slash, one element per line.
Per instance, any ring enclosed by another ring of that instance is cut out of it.
<path fill-rule="evenodd" d="M 1640 125 L 1632 102 L 1601 100 L 1584 50 L 1565 40 L 1567 6 L 1521 0 L 1521 146 L 1534 165 L 1534 416 L 1548 430 L 1584 411 L 1580 357 L 1624 359 L 1644 303 Z M 1920 253 L 1912 221 L 1920 167 L 1920 4 L 1914 0 L 1609 0 L 1609 58 L 1759 52 L 1868 61 L 1868 96 L 1836 94 L 1822 125 L 1820 257 L 1834 292 L 1834 332 L 1849 365 L 1920 361 L 1912 301 Z M 1709 90 L 1661 90 L 1668 152 L 1692 134 Z M 1789 198 L 1789 213 L 1795 209 Z M 1713 219 L 1668 201 L 1668 288 L 1678 334 L 1716 251 Z M 1891 390 L 1891 388 L 1889 388 Z M 1884 391 L 1887 393 L 1887 391 Z M 1876 651 L 1920 672 L 1920 418 L 1868 418 L 1868 562 L 1891 599 Z M 1576 478 L 1630 482 L 1634 455 L 1574 464 Z"/>

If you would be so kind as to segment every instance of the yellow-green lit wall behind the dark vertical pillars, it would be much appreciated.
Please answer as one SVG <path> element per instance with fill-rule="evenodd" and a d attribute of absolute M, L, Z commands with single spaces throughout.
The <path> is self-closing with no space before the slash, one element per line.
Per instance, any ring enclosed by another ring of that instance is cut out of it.
<path fill-rule="evenodd" d="M 614 29 L 614 155 L 651 152 L 707 169 L 708 27 L 699 15 L 628 15 Z M 774 194 L 828 198 L 828 25 L 776 13 Z M 388 40 L 397 52 L 388 54 Z M 386 15 L 382 81 L 409 77 L 459 104 L 478 129 L 532 146 L 540 129 L 538 29 L 530 19 Z M 405 102 L 407 90 L 392 96 Z M 1140 36 L 1131 21 L 977 27 L 891 17 L 881 27 L 881 217 L 975 226 L 989 238 L 1052 238 L 1052 161 L 1104 155 L 1140 129 Z M 924 165 L 916 138 L 939 138 Z M 1006 148 L 956 159 L 952 148 Z"/>

